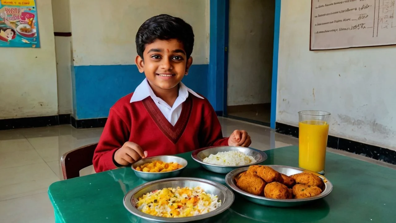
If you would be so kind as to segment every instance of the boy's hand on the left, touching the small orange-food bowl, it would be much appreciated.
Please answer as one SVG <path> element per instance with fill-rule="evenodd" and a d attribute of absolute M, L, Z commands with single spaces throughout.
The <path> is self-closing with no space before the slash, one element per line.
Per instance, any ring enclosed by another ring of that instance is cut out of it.
<path fill-rule="evenodd" d="M 141 158 L 147 157 L 147 151 L 134 142 L 126 142 L 114 153 L 114 161 L 123 166 L 128 166 Z"/>

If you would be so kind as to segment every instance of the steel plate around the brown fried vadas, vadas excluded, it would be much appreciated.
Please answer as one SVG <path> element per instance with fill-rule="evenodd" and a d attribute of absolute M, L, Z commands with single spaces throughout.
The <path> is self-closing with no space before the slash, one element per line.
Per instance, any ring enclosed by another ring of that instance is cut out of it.
<path fill-rule="evenodd" d="M 279 173 L 283 173 L 287 176 L 297 174 L 297 173 L 302 173 L 302 172 L 311 172 L 307 171 L 305 169 L 300 169 L 296 167 L 289 167 L 289 166 L 282 166 L 282 165 L 267 165 L 269 167 L 272 167 L 274 170 L 278 171 Z M 333 190 L 333 185 L 329 180 L 326 179 L 326 177 L 319 175 L 320 179 L 322 179 L 325 188 L 323 192 L 317 196 L 311 197 L 311 198 L 301 198 L 301 199 L 272 199 L 272 198 L 266 198 L 263 196 L 256 196 L 253 194 L 249 194 L 235 185 L 235 177 L 244 172 L 247 171 L 249 167 L 242 167 L 239 169 L 235 169 L 228 173 L 225 177 L 225 182 L 227 185 L 237 192 L 238 194 L 241 194 L 244 198 L 249 200 L 250 202 L 256 203 L 256 204 L 261 204 L 261 205 L 266 205 L 266 206 L 274 206 L 274 207 L 293 207 L 293 206 L 300 206 L 303 204 L 307 204 L 308 202 L 318 200 L 321 198 L 324 198 L 325 196 L 329 195 L 331 190 Z"/>

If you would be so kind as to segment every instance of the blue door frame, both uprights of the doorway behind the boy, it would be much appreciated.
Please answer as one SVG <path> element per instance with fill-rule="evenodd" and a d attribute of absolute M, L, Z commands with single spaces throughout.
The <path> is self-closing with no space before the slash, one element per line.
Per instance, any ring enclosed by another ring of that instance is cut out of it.
<path fill-rule="evenodd" d="M 271 83 L 270 127 L 275 129 L 281 0 L 275 0 L 274 52 Z M 227 115 L 229 0 L 210 0 L 208 99 L 217 112 Z M 223 91 L 221 91 L 223 89 Z"/>

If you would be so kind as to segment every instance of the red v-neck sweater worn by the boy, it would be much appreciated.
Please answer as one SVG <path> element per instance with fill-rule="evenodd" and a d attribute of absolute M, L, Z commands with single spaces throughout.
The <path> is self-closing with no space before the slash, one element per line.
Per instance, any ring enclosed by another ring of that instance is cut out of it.
<path fill-rule="evenodd" d="M 110 108 L 105 129 L 93 154 L 96 172 L 115 169 L 113 154 L 128 141 L 141 146 L 148 152 L 148 157 L 228 145 L 228 138 L 223 138 L 219 119 L 207 99 L 189 94 L 173 126 L 151 97 L 130 103 L 132 94 L 121 98 Z"/>

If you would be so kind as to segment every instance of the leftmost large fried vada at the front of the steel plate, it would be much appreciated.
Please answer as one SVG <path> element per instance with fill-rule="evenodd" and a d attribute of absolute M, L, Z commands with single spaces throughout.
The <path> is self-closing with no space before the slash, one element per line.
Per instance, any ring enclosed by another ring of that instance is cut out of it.
<path fill-rule="evenodd" d="M 258 196 L 263 194 L 265 181 L 255 174 L 246 173 L 239 177 L 236 186 L 249 194 Z"/>

